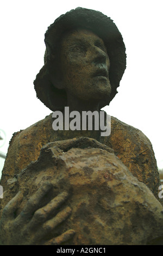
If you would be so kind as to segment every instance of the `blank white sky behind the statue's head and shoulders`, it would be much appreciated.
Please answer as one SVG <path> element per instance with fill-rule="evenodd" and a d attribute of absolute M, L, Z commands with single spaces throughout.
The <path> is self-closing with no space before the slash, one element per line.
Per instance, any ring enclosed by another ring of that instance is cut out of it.
<path fill-rule="evenodd" d="M 120 30 L 127 69 L 118 94 L 105 111 L 140 129 L 150 139 L 163 168 L 162 0 L 1 0 L 0 129 L 7 135 L 26 129 L 52 111 L 36 98 L 33 81 L 43 66 L 44 34 L 61 14 L 76 7 L 102 11 Z"/>

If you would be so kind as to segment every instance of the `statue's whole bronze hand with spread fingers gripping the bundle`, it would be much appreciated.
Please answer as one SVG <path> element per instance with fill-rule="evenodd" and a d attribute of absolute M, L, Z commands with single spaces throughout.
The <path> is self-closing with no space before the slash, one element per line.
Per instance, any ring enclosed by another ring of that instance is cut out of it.
<path fill-rule="evenodd" d="M 23 194 L 18 192 L 10 200 L 2 212 L 0 221 L 0 245 L 60 245 L 73 237 L 75 234 L 74 230 L 70 229 L 42 243 L 44 237 L 55 230 L 57 225 L 65 221 L 71 214 L 71 209 L 67 206 L 56 215 L 56 210 L 68 197 L 67 192 L 62 192 L 47 205 L 39 209 L 42 198 L 51 188 L 52 184 L 49 182 L 43 184 L 28 200 L 24 209 L 16 217 L 15 212 L 22 202 Z M 54 217 L 52 217 L 52 214 Z"/>

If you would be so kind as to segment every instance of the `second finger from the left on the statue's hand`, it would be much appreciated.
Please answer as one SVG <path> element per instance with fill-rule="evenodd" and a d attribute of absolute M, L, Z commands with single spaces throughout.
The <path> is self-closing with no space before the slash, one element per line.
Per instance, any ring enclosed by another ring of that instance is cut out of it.
<path fill-rule="evenodd" d="M 28 200 L 26 206 L 20 213 L 20 217 L 22 219 L 29 218 L 33 215 L 33 212 L 36 211 L 40 204 L 42 198 L 51 190 L 52 184 L 49 182 L 45 182 L 42 187 L 37 190 L 37 192 Z"/>

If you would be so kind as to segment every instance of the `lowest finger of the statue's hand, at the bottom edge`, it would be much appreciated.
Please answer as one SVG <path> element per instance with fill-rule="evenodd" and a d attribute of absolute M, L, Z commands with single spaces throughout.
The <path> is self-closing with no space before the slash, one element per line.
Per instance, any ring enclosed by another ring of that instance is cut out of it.
<path fill-rule="evenodd" d="M 61 243 L 67 242 L 68 240 L 72 239 L 75 234 L 76 232 L 73 229 L 69 229 L 60 236 L 57 236 L 43 243 L 43 245 L 61 245 Z"/>

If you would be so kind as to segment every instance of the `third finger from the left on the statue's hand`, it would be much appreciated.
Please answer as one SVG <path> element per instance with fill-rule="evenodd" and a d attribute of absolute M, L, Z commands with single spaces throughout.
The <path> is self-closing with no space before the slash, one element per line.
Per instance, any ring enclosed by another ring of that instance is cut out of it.
<path fill-rule="evenodd" d="M 45 222 L 52 215 L 54 216 L 55 211 L 59 208 L 59 206 L 62 203 L 65 202 L 67 197 L 68 197 L 68 193 L 62 192 L 57 197 L 53 198 L 51 202 L 49 202 L 47 205 L 35 211 L 35 214 L 29 223 L 29 229 L 34 229 L 36 225 Z"/>

